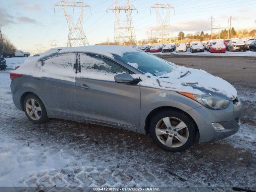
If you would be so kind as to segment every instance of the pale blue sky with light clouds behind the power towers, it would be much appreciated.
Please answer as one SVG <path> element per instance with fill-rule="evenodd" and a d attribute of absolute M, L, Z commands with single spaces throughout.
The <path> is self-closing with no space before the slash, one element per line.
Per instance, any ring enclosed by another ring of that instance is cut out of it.
<path fill-rule="evenodd" d="M 61 7 L 54 4 L 60 0 L 0 0 L 0 25 L 2 33 L 20 50 L 34 52 L 35 44 L 50 48 L 49 40 L 57 40 L 58 46 L 66 45 L 68 24 Z M 124 5 L 126 0 L 119 0 Z M 84 0 L 91 6 L 84 9 L 83 28 L 90 45 L 99 42 L 113 41 L 114 14 L 106 9 L 114 0 Z M 147 31 L 156 28 L 156 14 L 150 6 L 155 3 L 170 3 L 175 8 L 171 10 L 170 24 L 172 32 L 179 31 L 195 33 L 210 32 L 208 18 L 214 17 L 214 25 L 228 26 L 228 18 L 232 16 L 232 26 L 238 29 L 256 29 L 256 0 L 130 0 L 138 9 L 132 13 L 137 40 L 147 38 Z M 125 15 L 125 12 L 121 12 Z M 78 10 L 70 12 L 78 16 Z M 161 14 L 164 16 L 164 14 Z M 216 32 L 218 30 L 215 30 Z"/>

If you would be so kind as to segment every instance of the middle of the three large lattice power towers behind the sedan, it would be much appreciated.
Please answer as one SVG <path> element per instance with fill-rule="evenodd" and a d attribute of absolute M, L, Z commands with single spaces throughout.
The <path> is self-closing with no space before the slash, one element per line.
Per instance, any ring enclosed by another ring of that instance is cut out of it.
<path fill-rule="evenodd" d="M 114 4 L 107 8 L 107 12 L 108 10 L 112 10 L 113 12 L 115 11 L 114 42 L 118 45 L 137 44 L 132 22 L 132 10 L 137 11 L 137 9 L 130 4 L 130 0 L 126 0 L 125 6 L 119 6 L 118 0 L 115 0 Z M 119 17 L 120 11 L 126 12 L 126 17 L 123 24 L 121 24 L 122 20 L 120 20 Z"/>

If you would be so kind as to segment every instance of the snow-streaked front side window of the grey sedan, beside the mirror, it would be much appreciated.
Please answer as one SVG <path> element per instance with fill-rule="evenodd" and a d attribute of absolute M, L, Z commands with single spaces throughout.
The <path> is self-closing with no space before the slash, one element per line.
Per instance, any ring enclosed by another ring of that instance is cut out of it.
<path fill-rule="evenodd" d="M 92 78 L 114 81 L 114 76 L 120 73 L 129 73 L 118 64 L 100 56 L 78 54 L 78 74 L 80 78 Z"/>

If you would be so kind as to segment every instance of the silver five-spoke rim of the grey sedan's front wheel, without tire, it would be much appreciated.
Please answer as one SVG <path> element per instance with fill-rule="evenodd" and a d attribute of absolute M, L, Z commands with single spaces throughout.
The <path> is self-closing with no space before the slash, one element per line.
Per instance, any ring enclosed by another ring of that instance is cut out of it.
<path fill-rule="evenodd" d="M 180 147 L 188 140 L 188 127 L 178 118 L 165 117 L 156 124 L 156 137 L 167 147 Z"/>

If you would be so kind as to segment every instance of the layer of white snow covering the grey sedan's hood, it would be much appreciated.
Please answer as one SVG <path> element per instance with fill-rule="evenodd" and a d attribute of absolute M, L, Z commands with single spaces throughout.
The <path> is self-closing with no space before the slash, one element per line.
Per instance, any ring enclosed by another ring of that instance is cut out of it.
<path fill-rule="evenodd" d="M 230 100 L 234 100 L 237 97 L 236 89 L 222 78 L 213 76 L 204 70 L 174 66 L 177 68 L 172 72 L 158 77 L 151 74 L 133 74 L 132 76 L 142 80 L 139 82 L 141 86 L 198 95 L 206 94 L 204 90 L 207 90 L 207 92 L 226 96 Z"/>

